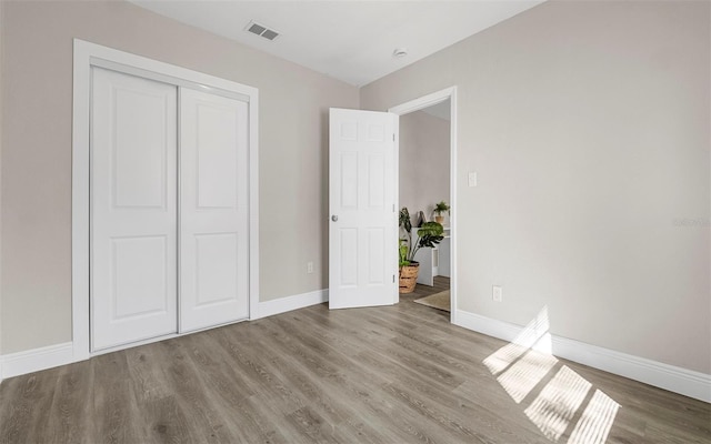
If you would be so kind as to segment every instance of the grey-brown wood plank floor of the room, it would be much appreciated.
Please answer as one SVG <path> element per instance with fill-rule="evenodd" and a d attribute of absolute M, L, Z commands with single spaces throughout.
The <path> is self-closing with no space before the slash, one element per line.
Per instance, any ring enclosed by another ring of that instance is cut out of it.
<path fill-rule="evenodd" d="M 710 404 L 517 354 L 412 303 L 449 282 L 437 285 L 395 306 L 314 305 L 9 379 L 0 442 L 568 443 L 580 424 L 583 443 L 607 426 L 609 443 L 711 442 Z"/>

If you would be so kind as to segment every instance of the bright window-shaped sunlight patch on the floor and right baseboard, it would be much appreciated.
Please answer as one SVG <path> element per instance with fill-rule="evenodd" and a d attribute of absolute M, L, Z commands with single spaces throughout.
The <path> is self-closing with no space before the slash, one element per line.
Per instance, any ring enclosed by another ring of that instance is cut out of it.
<path fill-rule="evenodd" d="M 602 444 L 620 404 L 551 354 L 548 307 L 512 343 L 483 361 L 543 435 L 559 442 Z M 567 433 L 568 432 L 568 433 Z"/>

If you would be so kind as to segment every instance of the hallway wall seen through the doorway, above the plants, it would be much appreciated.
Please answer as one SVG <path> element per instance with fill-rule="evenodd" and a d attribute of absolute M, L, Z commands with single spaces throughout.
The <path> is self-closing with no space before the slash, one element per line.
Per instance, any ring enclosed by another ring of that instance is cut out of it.
<path fill-rule="evenodd" d="M 449 121 L 423 111 L 400 117 L 400 208 L 413 220 L 418 211 L 433 220 L 434 204 L 450 201 L 449 131 Z"/>

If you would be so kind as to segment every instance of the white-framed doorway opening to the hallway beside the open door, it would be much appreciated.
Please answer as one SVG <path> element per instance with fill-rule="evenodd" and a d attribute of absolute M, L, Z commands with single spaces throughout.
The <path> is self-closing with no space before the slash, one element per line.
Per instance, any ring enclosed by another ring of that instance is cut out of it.
<path fill-rule="evenodd" d="M 442 310 L 450 322 L 457 316 L 457 87 L 391 108 L 400 117 L 397 155 L 399 208 L 408 208 L 413 231 L 434 220 L 434 206 L 445 202 L 444 239 L 417 254 L 420 271 L 415 290 L 407 300 Z M 415 235 L 413 234 L 413 239 Z"/>

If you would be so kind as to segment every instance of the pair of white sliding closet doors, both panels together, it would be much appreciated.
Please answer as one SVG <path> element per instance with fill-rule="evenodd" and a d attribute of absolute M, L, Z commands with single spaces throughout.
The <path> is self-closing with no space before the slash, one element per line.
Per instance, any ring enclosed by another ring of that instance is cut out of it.
<path fill-rule="evenodd" d="M 249 102 L 91 67 L 92 351 L 249 316 Z"/>

